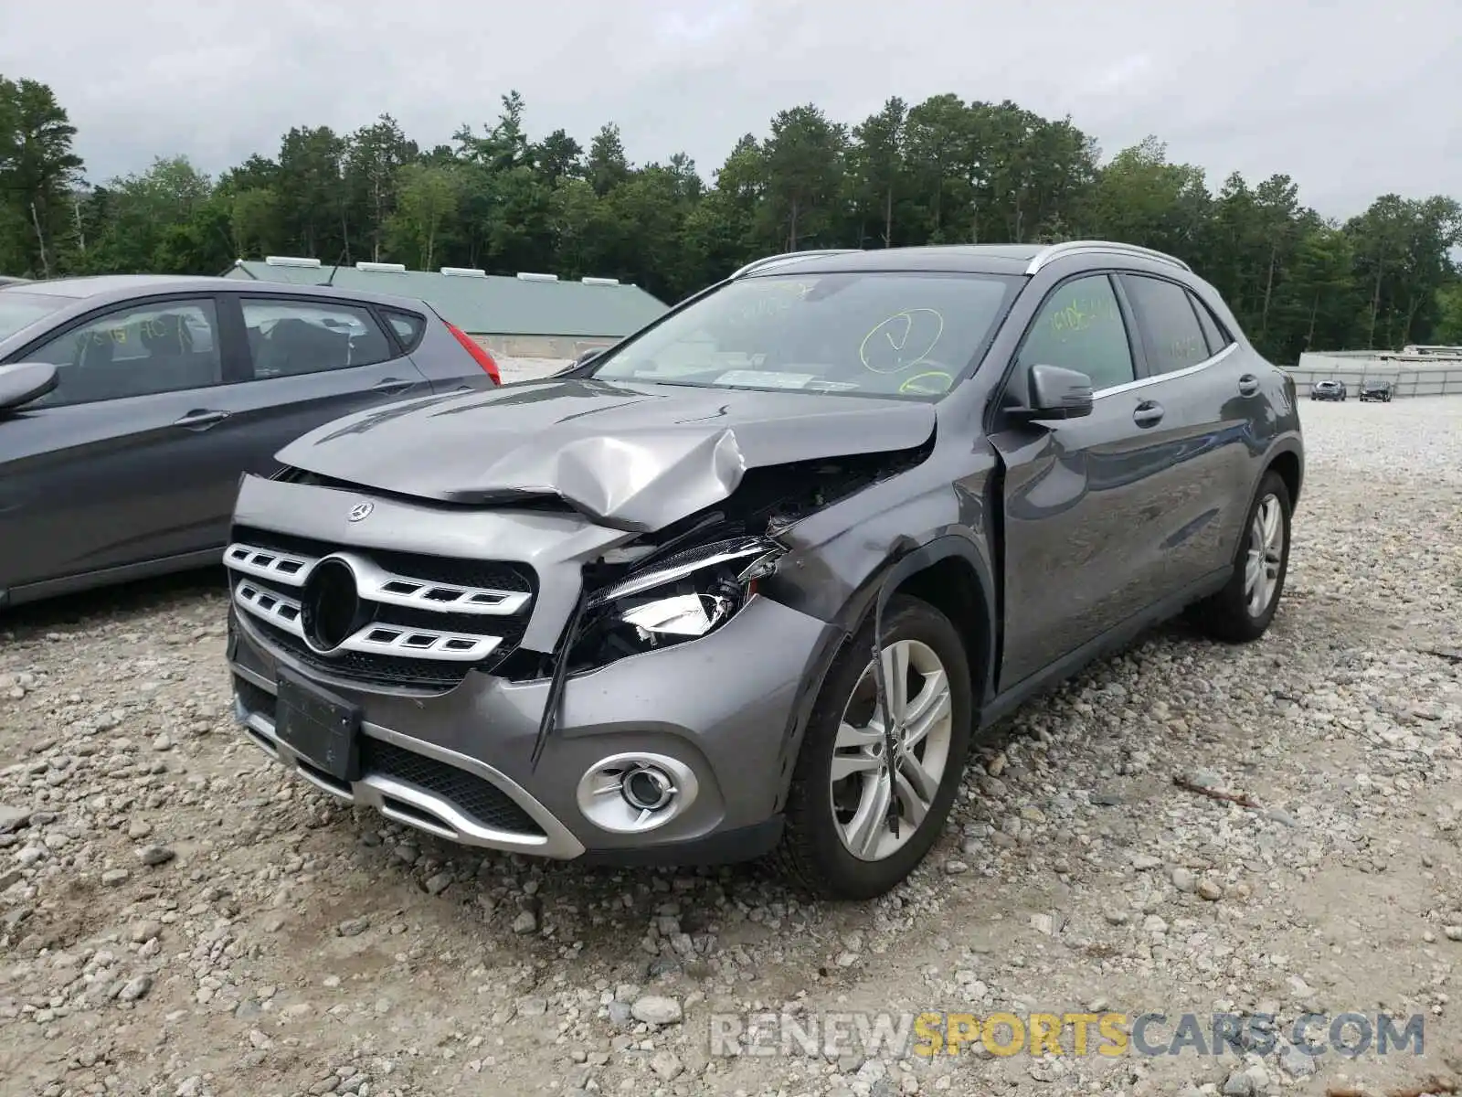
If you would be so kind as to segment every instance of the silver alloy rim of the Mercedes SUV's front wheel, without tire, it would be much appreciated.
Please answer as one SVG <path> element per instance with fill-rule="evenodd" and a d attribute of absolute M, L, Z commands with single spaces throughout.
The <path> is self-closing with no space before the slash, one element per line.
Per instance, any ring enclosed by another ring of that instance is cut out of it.
<path fill-rule="evenodd" d="M 934 649 L 896 641 L 880 660 L 892 736 L 885 730 L 870 660 L 844 706 L 830 771 L 838 835 L 848 853 L 866 862 L 902 848 L 924 822 L 944 780 L 953 736 L 949 674 Z"/>

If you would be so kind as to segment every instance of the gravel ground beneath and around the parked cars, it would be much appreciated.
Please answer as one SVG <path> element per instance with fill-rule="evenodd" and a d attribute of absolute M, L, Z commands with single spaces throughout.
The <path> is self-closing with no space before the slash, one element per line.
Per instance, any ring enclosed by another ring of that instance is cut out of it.
<path fill-rule="evenodd" d="M 1303 414 L 1265 641 L 1174 626 L 1028 705 L 866 905 L 336 806 L 234 731 L 216 573 L 0 619 L 0 1091 L 1418 1093 L 1462 1069 L 1462 401 Z M 1423 1058 L 711 1053 L 712 1012 L 763 1009 L 1427 1030 Z"/>

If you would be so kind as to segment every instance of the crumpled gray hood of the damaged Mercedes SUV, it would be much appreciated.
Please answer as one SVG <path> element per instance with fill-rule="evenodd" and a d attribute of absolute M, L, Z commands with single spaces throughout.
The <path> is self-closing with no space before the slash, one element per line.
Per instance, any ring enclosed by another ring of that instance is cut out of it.
<path fill-rule="evenodd" d="M 439 502 L 557 496 L 646 531 L 721 502 L 749 468 L 912 449 L 934 421 L 911 401 L 548 379 L 357 412 L 276 456 Z"/>

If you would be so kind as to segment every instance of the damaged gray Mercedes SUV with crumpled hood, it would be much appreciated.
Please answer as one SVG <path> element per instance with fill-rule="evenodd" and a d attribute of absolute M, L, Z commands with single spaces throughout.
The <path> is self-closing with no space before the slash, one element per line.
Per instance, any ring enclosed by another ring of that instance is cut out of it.
<path fill-rule="evenodd" d="M 1154 623 L 1259 638 L 1294 383 L 1101 241 L 773 256 L 545 380 L 314 430 L 225 551 L 244 731 L 469 845 L 904 879 L 972 737 Z"/>

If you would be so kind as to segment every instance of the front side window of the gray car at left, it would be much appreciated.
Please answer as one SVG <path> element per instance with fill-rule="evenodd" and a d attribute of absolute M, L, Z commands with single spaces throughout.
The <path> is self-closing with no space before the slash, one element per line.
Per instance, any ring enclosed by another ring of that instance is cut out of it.
<path fill-rule="evenodd" d="M 224 380 L 211 300 L 149 301 L 105 313 L 25 354 L 58 367 L 37 405 L 202 389 Z"/>

